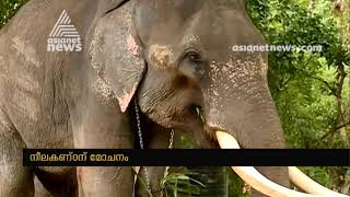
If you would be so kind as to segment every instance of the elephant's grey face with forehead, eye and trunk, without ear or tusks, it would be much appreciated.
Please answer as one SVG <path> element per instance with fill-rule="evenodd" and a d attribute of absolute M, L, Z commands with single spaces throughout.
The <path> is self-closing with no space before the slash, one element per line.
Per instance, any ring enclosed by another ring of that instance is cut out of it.
<path fill-rule="evenodd" d="M 209 140 L 213 130 L 225 130 L 247 148 L 284 148 L 267 55 L 233 51 L 235 45 L 265 45 L 244 1 L 142 1 L 135 23 L 148 65 L 138 101 L 151 119 L 206 130 Z M 203 136 L 195 134 L 198 141 Z"/>

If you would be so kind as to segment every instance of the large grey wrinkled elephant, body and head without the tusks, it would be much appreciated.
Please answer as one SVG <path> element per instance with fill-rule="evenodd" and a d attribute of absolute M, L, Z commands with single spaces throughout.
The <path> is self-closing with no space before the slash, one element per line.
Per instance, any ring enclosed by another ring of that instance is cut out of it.
<path fill-rule="evenodd" d="M 23 167 L 22 149 L 133 148 L 132 97 L 148 148 L 166 148 L 168 128 L 191 131 L 205 148 L 215 129 L 245 148 L 284 147 L 266 54 L 231 49 L 265 44 L 243 0 L 120 2 L 32 0 L 1 30 L 1 196 L 31 197 L 35 187 L 35 196 L 131 196 L 130 167 Z M 46 50 L 63 9 L 82 53 Z M 163 167 L 149 171 L 158 196 Z M 260 171 L 288 184 L 285 169 Z"/>

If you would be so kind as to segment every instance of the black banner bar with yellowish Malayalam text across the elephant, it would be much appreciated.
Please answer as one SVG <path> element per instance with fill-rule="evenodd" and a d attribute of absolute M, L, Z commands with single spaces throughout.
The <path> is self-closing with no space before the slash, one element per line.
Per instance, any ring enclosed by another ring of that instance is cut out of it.
<path fill-rule="evenodd" d="M 24 166 L 350 166 L 349 149 L 24 149 Z"/>

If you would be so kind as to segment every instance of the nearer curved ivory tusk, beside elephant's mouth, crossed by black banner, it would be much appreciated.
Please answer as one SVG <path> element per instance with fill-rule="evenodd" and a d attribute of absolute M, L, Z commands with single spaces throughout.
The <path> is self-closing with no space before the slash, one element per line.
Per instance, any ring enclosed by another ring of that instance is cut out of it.
<path fill-rule="evenodd" d="M 217 138 L 219 144 L 222 149 L 240 149 L 238 142 L 224 131 L 217 131 Z M 326 195 L 314 195 L 305 194 L 296 190 L 285 188 L 281 185 L 278 185 L 264 175 L 261 175 L 253 166 L 231 166 L 232 170 L 248 185 L 250 185 L 256 190 L 273 197 L 329 197 Z"/>

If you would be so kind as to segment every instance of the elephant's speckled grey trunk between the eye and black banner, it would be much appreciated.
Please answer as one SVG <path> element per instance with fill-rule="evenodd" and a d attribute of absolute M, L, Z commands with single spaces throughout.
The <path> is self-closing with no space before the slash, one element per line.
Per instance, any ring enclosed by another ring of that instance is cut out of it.
<path fill-rule="evenodd" d="M 264 55 L 231 54 L 211 62 L 205 88 L 205 117 L 245 148 L 284 148 L 283 131 L 269 92 Z"/>

